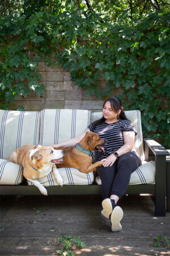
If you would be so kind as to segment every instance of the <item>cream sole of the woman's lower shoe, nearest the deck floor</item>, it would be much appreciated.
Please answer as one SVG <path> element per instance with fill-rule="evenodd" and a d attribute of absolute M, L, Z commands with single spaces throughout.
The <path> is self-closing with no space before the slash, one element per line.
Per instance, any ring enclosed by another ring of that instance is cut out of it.
<path fill-rule="evenodd" d="M 112 225 L 112 231 L 120 231 L 122 229 L 122 226 L 120 224 L 120 221 L 122 217 L 124 216 L 124 212 L 121 207 L 114 207 L 113 212 L 111 214 L 111 225 Z"/>

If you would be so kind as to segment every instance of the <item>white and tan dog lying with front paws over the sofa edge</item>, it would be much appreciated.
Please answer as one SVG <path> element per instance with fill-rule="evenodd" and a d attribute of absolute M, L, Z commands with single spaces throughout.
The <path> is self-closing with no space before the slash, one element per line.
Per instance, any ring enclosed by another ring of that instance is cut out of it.
<path fill-rule="evenodd" d="M 23 175 L 28 183 L 31 181 L 46 196 L 48 195 L 46 188 L 37 179 L 53 170 L 57 183 L 62 186 L 63 180 L 55 164 L 62 163 L 64 154 L 64 150 L 54 150 L 51 146 L 24 145 L 12 152 L 8 160 L 23 166 Z"/>

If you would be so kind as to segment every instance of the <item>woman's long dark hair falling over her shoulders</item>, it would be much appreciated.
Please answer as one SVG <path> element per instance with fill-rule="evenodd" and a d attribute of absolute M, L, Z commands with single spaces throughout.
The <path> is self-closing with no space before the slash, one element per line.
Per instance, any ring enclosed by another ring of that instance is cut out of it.
<path fill-rule="evenodd" d="M 121 112 L 120 114 L 118 115 L 118 119 L 121 119 L 121 120 L 128 120 L 128 118 L 126 118 L 126 115 L 125 115 L 125 112 L 123 110 L 123 107 L 122 107 L 122 103 L 121 103 L 121 100 L 117 97 L 111 97 L 111 98 L 108 98 L 107 100 L 105 100 L 104 104 L 103 104 L 103 108 L 104 108 L 104 105 L 105 103 L 109 101 L 111 103 L 111 107 L 112 107 L 112 110 L 116 113 L 118 112 L 118 110 L 121 109 Z M 92 123 L 92 127 L 93 129 L 96 127 L 96 125 L 100 125 L 101 123 L 105 122 L 105 118 L 104 116 L 101 117 L 99 120 L 96 120 L 95 122 Z"/>

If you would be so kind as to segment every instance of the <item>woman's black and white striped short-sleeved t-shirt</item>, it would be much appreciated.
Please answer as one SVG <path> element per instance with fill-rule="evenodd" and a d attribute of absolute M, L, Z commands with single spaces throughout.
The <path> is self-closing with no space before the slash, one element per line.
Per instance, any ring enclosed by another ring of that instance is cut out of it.
<path fill-rule="evenodd" d="M 107 158 L 114 151 L 118 150 L 124 145 L 124 131 L 134 131 L 137 135 L 137 131 L 134 126 L 128 120 L 120 120 L 114 123 L 101 123 L 96 125 L 94 128 L 92 123 L 88 126 L 88 129 L 93 133 L 99 134 L 100 138 L 106 139 L 107 144 L 104 146 L 104 151 L 96 151 L 96 161 L 100 161 L 104 158 Z M 134 152 L 138 156 L 137 151 L 133 148 L 130 152 Z"/>

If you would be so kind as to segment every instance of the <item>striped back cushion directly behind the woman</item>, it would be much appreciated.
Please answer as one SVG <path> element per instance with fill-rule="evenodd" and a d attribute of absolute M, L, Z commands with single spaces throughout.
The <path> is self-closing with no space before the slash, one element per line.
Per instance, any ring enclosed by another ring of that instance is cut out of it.
<path fill-rule="evenodd" d="M 102 117 L 102 112 L 92 113 L 92 122 L 100 119 Z M 139 110 L 130 110 L 125 111 L 126 117 L 134 125 L 137 130 L 137 135 L 135 136 L 135 150 L 137 150 L 138 155 L 141 157 L 141 160 L 145 160 L 145 154 L 143 151 L 143 136 L 142 136 L 142 125 L 141 125 L 141 112 Z"/>

